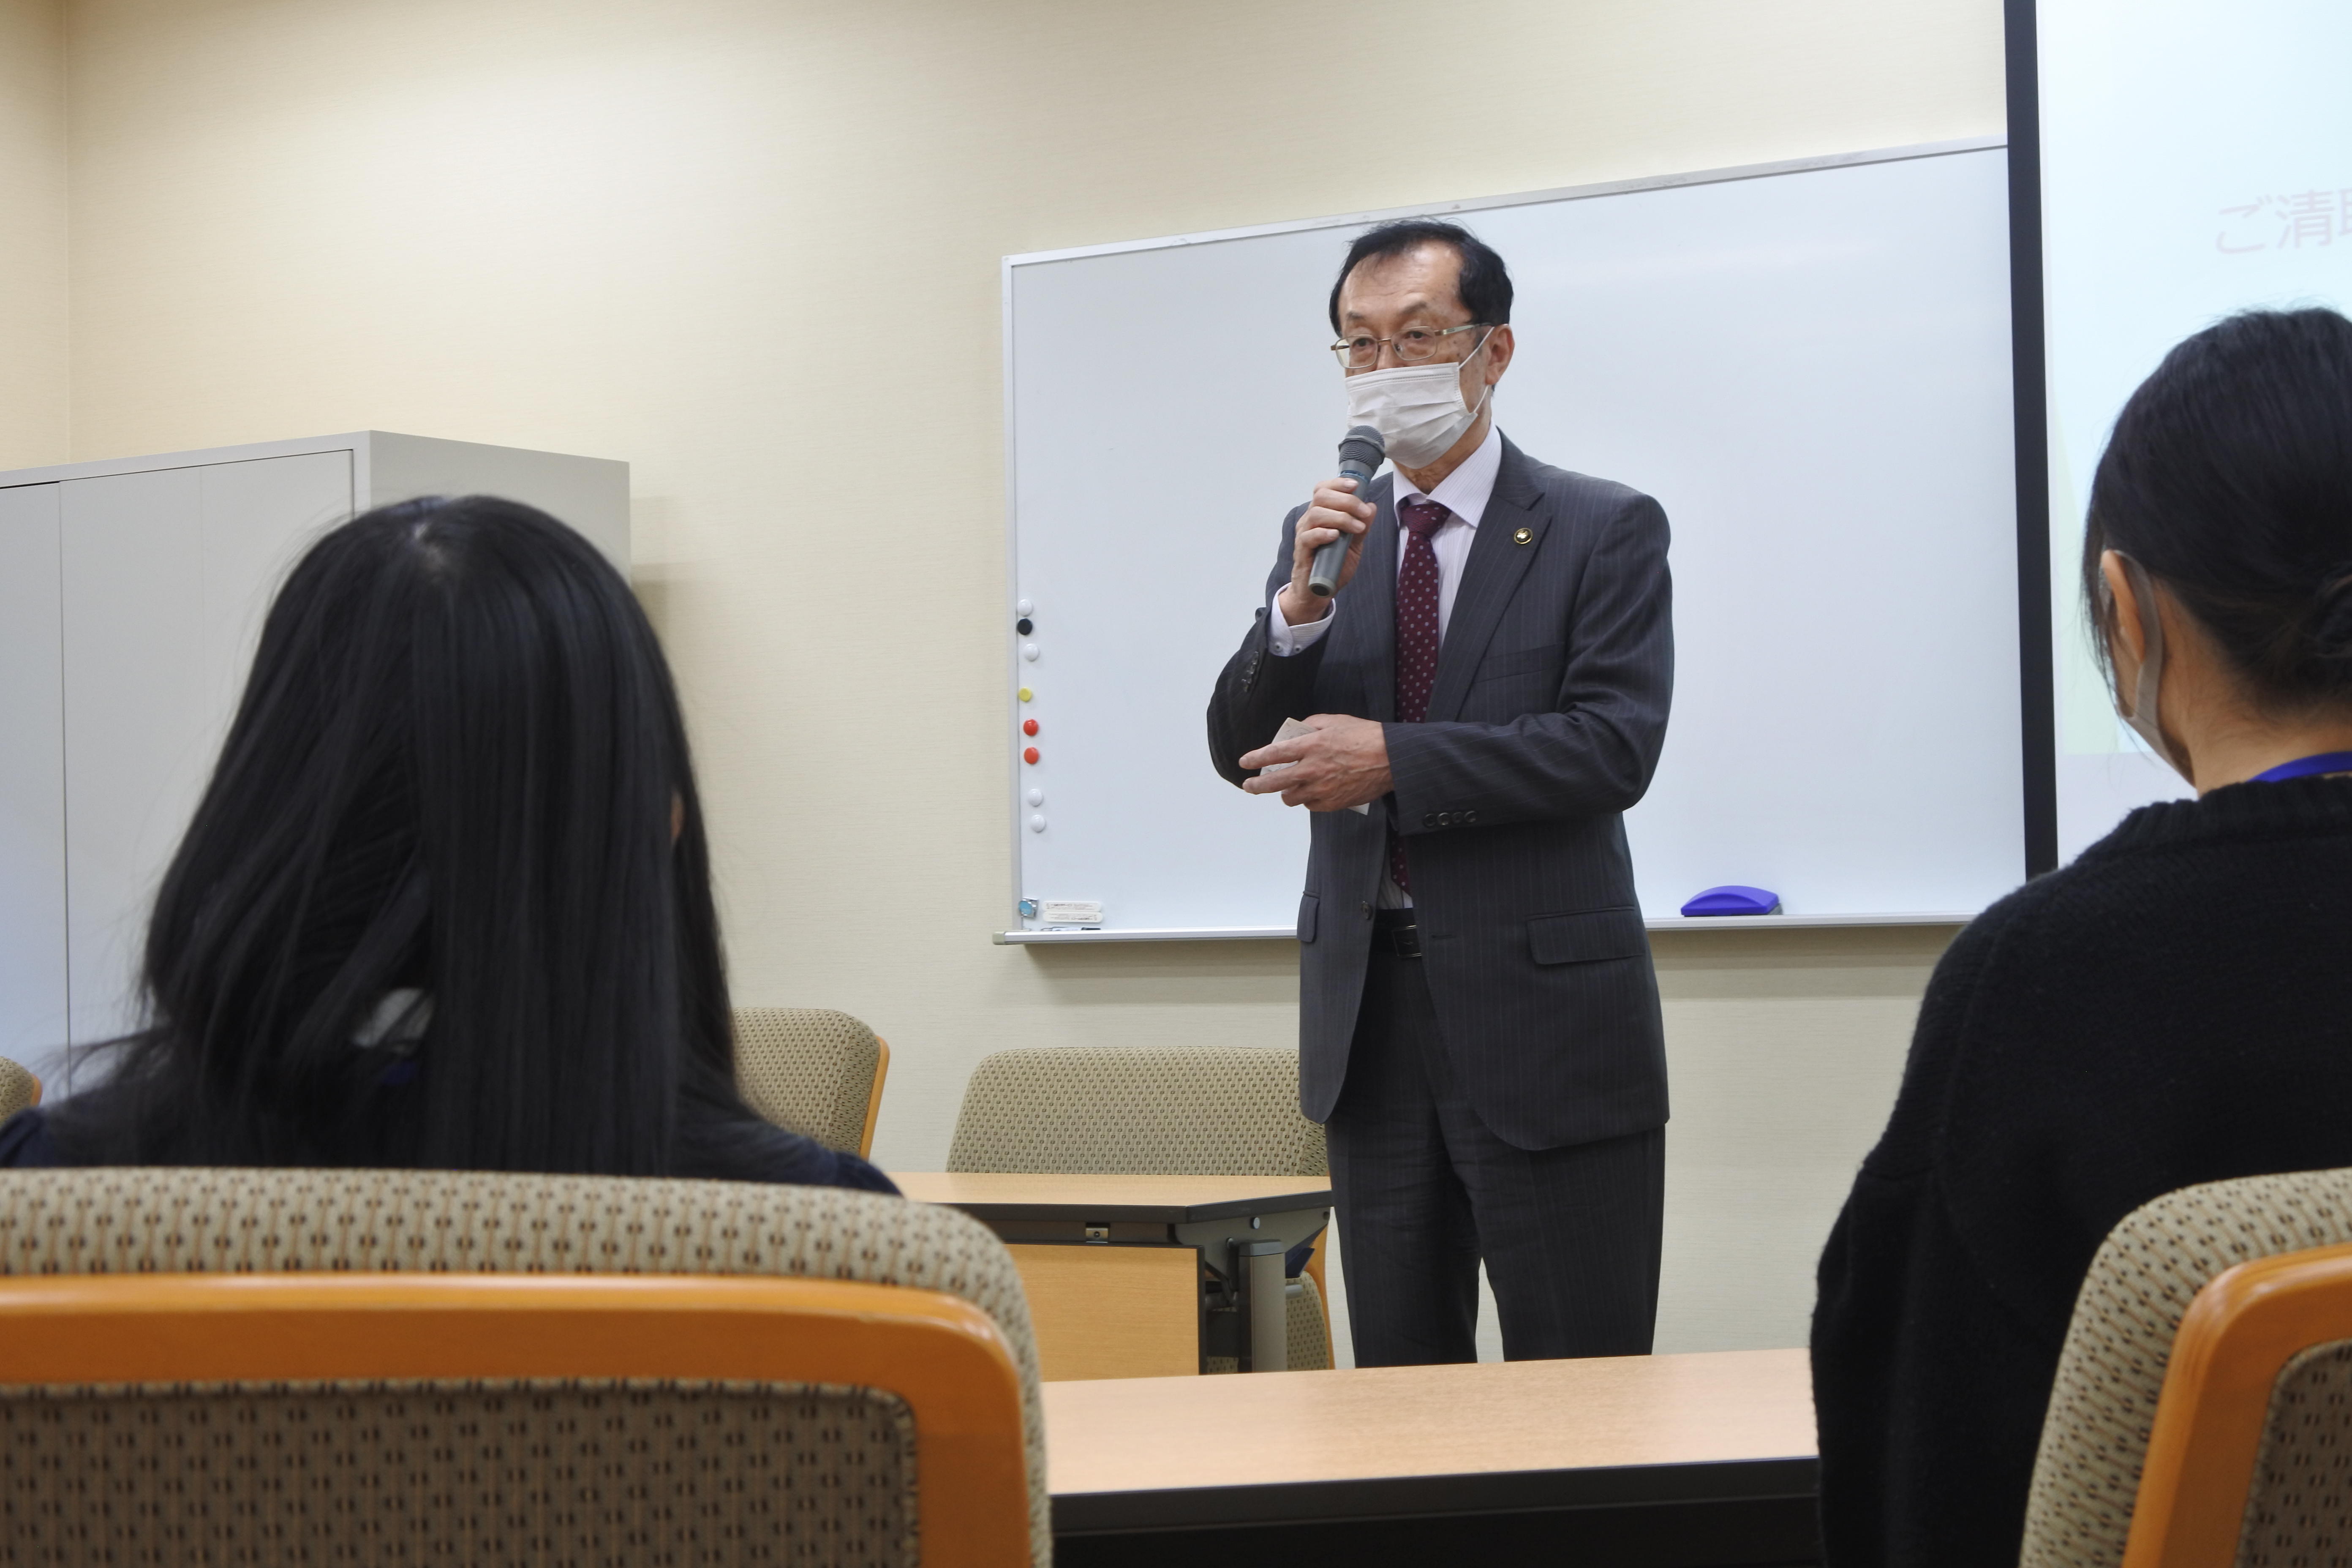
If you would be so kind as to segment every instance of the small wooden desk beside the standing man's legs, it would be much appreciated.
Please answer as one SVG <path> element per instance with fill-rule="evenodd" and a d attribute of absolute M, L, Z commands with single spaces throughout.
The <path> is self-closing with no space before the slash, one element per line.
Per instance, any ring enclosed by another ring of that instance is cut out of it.
<path fill-rule="evenodd" d="M 1279 1371 L 1282 1255 L 1331 1215 L 1322 1175 L 891 1171 L 1011 1248 L 1047 1380 Z M 1270 1366 L 1268 1366 L 1270 1363 Z"/>

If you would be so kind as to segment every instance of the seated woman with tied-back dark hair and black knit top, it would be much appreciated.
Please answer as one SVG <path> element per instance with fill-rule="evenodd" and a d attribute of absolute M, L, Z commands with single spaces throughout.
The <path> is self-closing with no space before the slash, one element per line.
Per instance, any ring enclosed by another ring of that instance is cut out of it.
<path fill-rule="evenodd" d="M 2091 1253 L 2140 1204 L 2352 1166 L 2352 322 L 2249 313 L 2117 418 L 2084 597 L 2143 806 L 1936 966 L 1820 1260 L 1830 1568 L 2016 1563 Z"/>

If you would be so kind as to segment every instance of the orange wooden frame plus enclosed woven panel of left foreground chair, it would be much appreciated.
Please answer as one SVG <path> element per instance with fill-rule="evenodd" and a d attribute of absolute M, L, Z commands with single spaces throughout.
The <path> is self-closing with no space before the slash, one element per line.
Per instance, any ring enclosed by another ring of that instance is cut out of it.
<path fill-rule="evenodd" d="M 1018 1568 L 1021 1378 L 941 1291 L 0 1279 L 9 1561 Z"/>

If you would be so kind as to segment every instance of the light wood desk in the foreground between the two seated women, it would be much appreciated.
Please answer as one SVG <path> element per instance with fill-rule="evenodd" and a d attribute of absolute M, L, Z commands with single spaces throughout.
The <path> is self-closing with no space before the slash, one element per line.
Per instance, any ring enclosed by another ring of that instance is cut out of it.
<path fill-rule="evenodd" d="M 1044 1420 L 1065 1568 L 1818 1554 L 1802 1349 L 1063 1382 Z"/>

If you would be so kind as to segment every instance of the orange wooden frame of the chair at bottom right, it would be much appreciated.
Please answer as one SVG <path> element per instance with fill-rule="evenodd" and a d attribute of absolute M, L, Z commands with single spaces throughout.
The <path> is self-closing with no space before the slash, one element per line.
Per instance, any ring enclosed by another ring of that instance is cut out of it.
<path fill-rule="evenodd" d="M 2256 1258 L 2197 1293 L 2164 1368 L 2124 1568 L 2237 1561 L 2272 1387 L 2331 1340 L 2352 1340 L 2352 1246 Z"/>

